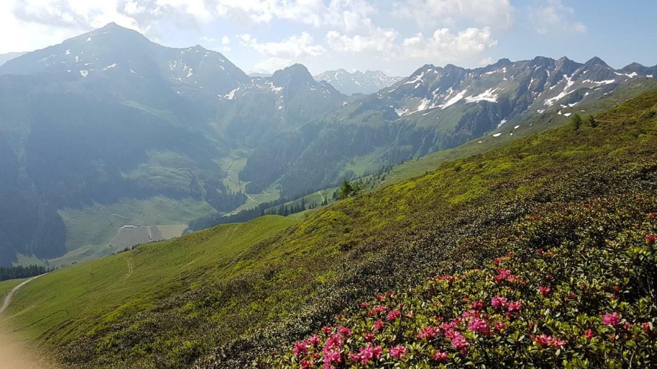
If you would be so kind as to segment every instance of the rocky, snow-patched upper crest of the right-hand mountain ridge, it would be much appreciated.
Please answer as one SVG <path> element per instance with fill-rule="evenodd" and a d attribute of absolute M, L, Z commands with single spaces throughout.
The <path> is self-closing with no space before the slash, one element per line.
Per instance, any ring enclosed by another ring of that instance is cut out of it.
<path fill-rule="evenodd" d="M 533 110 L 572 108 L 585 98 L 597 98 L 637 78 L 657 76 L 657 66 L 629 64 L 614 70 L 600 58 L 578 63 L 537 56 L 511 62 L 501 59 L 484 68 L 447 64 L 422 66 L 411 76 L 371 95 L 361 106 L 390 108 L 396 115 L 440 114 L 468 104 L 493 104 L 500 121 Z M 589 96 L 590 95 L 590 96 Z"/>

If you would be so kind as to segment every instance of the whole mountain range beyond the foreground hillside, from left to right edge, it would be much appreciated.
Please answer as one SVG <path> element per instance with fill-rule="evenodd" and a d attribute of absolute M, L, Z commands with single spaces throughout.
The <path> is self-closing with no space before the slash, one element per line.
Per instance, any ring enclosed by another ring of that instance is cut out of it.
<path fill-rule="evenodd" d="M 295 64 L 250 77 L 221 53 L 164 47 L 116 24 L 9 60 L 0 66 L 0 265 L 92 259 L 118 251 L 108 244 L 125 225 L 186 224 L 480 137 L 518 136 L 524 121 L 580 112 L 652 80 L 657 67 L 537 57 L 426 65 L 396 82 L 323 76 Z M 383 87 L 348 96 L 347 81 Z"/>

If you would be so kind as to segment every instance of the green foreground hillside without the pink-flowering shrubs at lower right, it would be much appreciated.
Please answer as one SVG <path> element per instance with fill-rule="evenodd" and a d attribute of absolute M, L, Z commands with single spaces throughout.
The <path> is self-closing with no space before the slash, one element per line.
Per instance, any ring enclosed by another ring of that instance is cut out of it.
<path fill-rule="evenodd" d="M 54 272 L 21 290 L 4 322 L 65 346 L 58 358 L 78 368 L 250 365 L 374 293 L 509 251 L 597 245 L 645 219 L 657 207 L 657 91 L 597 122 L 444 162 L 296 225 L 265 217 Z M 593 235 L 573 210 L 588 203 L 612 214 Z M 520 227 L 543 216 L 549 227 Z"/>

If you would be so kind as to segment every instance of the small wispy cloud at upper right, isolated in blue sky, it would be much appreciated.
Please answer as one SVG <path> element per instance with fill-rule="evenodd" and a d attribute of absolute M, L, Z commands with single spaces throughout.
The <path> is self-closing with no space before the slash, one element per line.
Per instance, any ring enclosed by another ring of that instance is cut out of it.
<path fill-rule="evenodd" d="M 536 32 L 586 32 L 585 24 L 572 20 L 575 11 L 563 5 L 561 0 L 546 0 L 532 8 L 530 19 Z"/>

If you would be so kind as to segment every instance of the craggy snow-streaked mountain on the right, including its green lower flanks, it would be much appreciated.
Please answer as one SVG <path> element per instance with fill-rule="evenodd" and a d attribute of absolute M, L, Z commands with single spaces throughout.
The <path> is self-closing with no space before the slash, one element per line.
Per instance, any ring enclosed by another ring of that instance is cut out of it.
<path fill-rule="evenodd" d="M 309 123 L 302 133 L 261 146 L 245 170 L 277 170 L 271 177 L 280 178 L 284 196 L 336 186 L 341 177 L 454 148 L 541 114 L 568 117 L 581 110 L 578 104 L 594 104 L 633 81 L 657 76 L 657 66 L 626 68 L 632 71 L 614 70 L 599 58 L 578 63 L 541 56 L 476 69 L 425 65 Z M 272 153 L 292 142 L 298 155 L 274 163 Z"/>

